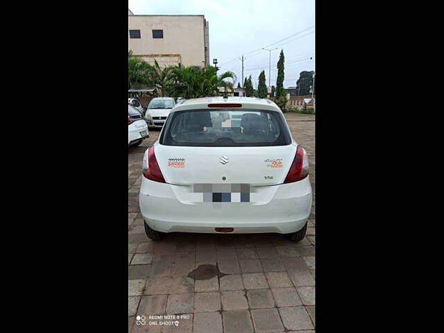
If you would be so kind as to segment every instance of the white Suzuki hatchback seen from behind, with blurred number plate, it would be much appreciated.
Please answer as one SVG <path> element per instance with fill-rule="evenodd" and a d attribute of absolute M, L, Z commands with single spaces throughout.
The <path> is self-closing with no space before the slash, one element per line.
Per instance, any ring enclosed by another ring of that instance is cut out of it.
<path fill-rule="evenodd" d="M 149 238 L 165 232 L 305 237 L 308 156 L 278 105 L 208 97 L 176 105 L 145 152 L 139 206 Z"/>

